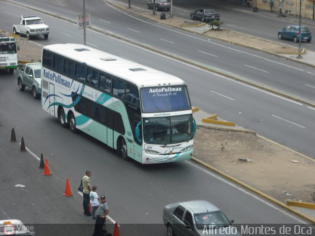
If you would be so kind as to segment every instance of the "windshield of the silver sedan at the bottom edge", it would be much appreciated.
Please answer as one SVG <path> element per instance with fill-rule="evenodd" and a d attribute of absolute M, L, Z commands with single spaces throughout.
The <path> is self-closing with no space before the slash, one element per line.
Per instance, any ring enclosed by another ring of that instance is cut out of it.
<path fill-rule="evenodd" d="M 226 216 L 220 211 L 198 213 L 194 215 L 196 228 L 203 230 L 205 227 L 215 229 L 219 227 L 228 227 L 231 223 Z"/>

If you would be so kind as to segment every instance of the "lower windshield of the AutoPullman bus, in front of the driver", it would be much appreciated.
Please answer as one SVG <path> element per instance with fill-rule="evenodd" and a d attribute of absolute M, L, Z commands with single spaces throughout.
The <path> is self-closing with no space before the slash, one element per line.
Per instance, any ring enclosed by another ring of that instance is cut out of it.
<path fill-rule="evenodd" d="M 175 144 L 193 138 L 192 115 L 143 118 L 144 142 Z"/>

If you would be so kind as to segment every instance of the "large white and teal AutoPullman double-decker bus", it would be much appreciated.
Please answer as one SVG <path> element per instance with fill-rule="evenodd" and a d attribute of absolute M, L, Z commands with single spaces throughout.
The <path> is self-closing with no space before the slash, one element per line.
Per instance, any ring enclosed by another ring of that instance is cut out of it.
<path fill-rule="evenodd" d="M 81 44 L 42 52 L 42 108 L 125 159 L 189 160 L 196 130 L 185 82 Z"/>

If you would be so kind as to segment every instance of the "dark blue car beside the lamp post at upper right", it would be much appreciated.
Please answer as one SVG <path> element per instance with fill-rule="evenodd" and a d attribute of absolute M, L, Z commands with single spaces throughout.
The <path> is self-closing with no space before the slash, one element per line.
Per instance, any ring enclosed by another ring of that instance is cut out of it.
<path fill-rule="evenodd" d="M 279 39 L 291 39 L 295 43 L 299 41 L 299 26 L 287 26 L 278 31 Z M 312 33 L 306 26 L 301 26 L 301 40 L 306 40 L 308 43 L 312 40 Z"/>

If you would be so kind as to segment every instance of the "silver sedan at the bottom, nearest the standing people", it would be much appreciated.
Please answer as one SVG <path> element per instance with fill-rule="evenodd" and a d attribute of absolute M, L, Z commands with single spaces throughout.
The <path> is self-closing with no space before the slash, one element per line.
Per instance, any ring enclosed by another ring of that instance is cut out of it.
<path fill-rule="evenodd" d="M 236 235 L 241 234 L 232 226 L 222 211 L 204 200 L 173 203 L 164 207 L 163 222 L 167 236 Z"/>

